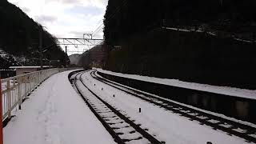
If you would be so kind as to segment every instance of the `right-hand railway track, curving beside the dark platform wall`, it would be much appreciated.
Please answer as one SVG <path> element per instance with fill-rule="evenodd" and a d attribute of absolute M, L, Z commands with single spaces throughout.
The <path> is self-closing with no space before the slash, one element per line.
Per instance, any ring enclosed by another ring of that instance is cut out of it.
<path fill-rule="evenodd" d="M 244 138 L 246 142 L 256 143 L 256 128 L 254 126 L 249 126 L 240 122 L 232 121 L 230 119 L 218 117 L 214 114 L 208 114 L 205 111 L 196 110 L 178 102 L 166 100 L 165 98 L 159 98 L 154 96 L 154 94 L 149 94 L 141 90 L 135 90 L 117 82 L 112 82 L 106 78 L 98 77 L 95 73 L 96 70 L 91 71 L 90 75 L 108 86 L 122 90 L 126 94 L 141 98 L 142 100 L 150 102 L 156 106 L 160 106 L 165 110 L 170 110 L 176 114 L 181 114 L 186 118 L 190 118 L 191 121 L 198 121 L 200 124 L 210 126 L 214 130 L 222 130 L 229 135 L 235 135 L 239 138 Z"/>

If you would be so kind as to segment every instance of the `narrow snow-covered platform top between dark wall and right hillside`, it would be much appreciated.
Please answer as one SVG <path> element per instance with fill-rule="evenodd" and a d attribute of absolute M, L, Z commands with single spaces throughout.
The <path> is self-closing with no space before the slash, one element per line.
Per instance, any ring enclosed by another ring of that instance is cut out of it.
<path fill-rule="evenodd" d="M 122 74 L 122 73 L 115 73 L 109 70 L 102 70 L 97 69 L 99 72 L 102 72 L 104 74 L 110 74 L 115 75 L 122 78 L 130 78 L 145 82 L 153 82 L 153 83 L 159 83 L 167 86 L 176 86 L 191 90 L 200 90 L 200 91 L 207 91 L 210 93 L 215 94 L 224 94 L 234 97 L 240 97 L 240 98 L 250 98 L 250 99 L 256 99 L 256 90 L 245 90 L 245 89 L 239 89 L 234 87 L 227 87 L 227 86 L 212 86 L 207 84 L 200 84 L 200 83 L 194 83 L 194 82 L 182 82 L 178 79 L 167 79 L 167 78 L 154 78 L 154 77 L 147 77 L 147 76 L 141 76 L 141 75 L 135 75 L 135 74 Z"/>

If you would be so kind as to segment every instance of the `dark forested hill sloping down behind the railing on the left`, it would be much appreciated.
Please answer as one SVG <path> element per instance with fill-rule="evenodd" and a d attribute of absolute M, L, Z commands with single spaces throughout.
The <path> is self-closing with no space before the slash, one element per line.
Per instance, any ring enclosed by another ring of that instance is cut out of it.
<path fill-rule="evenodd" d="M 21 9 L 10 2 L 0 2 L 0 69 L 15 65 L 39 64 L 39 30 L 37 22 L 28 17 Z M 42 48 L 44 63 L 60 60 L 63 64 L 67 58 L 54 36 L 42 30 Z"/>

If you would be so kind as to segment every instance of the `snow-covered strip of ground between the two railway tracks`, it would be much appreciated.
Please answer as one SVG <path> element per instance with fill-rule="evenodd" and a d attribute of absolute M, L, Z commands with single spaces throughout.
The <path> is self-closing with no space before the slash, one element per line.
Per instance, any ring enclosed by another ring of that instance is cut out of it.
<path fill-rule="evenodd" d="M 90 90 L 93 90 L 110 105 L 118 108 L 122 114 L 127 114 L 135 120 L 135 123 L 142 124 L 142 128 L 149 129 L 148 132 L 155 135 L 159 141 L 165 141 L 167 144 L 248 143 L 242 138 L 230 136 L 220 130 L 213 130 L 210 126 L 200 125 L 196 121 L 190 121 L 179 114 L 174 114 L 114 87 L 107 86 L 92 78 L 90 73 L 83 74 L 82 80 Z M 139 108 L 142 109 L 142 113 L 138 112 Z"/>

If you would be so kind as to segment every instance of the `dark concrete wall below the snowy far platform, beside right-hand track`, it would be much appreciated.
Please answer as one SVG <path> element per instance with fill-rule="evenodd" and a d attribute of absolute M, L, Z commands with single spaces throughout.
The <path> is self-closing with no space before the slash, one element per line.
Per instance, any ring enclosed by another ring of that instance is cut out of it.
<path fill-rule="evenodd" d="M 191 106 L 209 110 L 218 114 L 237 118 L 246 122 L 256 123 L 256 100 L 232 97 L 224 94 L 214 94 L 205 91 L 189 90 L 185 88 L 166 86 L 153 82 L 143 82 L 130 78 L 122 78 L 98 72 L 102 77 L 123 85 L 134 87 L 162 98 L 169 98 Z"/>

